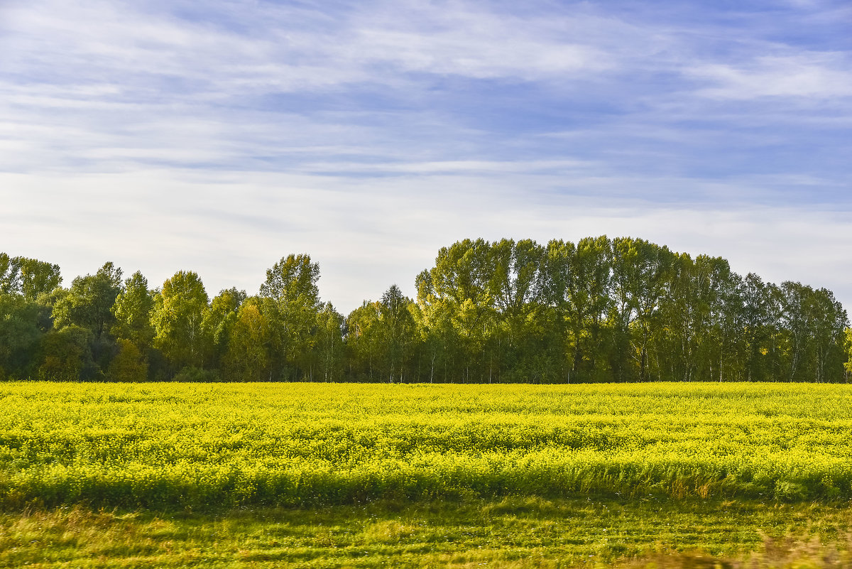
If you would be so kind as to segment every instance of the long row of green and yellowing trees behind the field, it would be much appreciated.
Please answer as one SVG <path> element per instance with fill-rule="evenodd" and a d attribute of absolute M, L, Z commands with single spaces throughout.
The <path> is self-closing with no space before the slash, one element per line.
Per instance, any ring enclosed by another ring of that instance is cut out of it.
<path fill-rule="evenodd" d="M 0 253 L 0 378 L 66 381 L 843 382 L 832 291 L 734 273 L 642 239 L 465 239 L 344 317 L 283 257 L 254 296 L 197 273 L 151 288 L 107 262 Z"/>

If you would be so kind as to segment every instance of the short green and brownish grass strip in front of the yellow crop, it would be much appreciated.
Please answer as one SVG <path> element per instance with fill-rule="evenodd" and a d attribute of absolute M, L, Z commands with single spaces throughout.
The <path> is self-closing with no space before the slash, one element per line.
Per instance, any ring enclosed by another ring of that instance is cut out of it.
<path fill-rule="evenodd" d="M 0 566 L 850 566 L 852 512 L 699 498 L 0 514 Z"/>

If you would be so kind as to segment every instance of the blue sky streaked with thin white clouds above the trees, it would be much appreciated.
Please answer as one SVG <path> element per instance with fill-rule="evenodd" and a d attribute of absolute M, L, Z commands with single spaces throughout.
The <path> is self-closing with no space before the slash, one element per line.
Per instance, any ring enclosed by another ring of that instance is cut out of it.
<path fill-rule="evenodd" d="M 852 307 L 848 0 L 0 0 L 0 250 L 348 313 L 606 234 Z"/>

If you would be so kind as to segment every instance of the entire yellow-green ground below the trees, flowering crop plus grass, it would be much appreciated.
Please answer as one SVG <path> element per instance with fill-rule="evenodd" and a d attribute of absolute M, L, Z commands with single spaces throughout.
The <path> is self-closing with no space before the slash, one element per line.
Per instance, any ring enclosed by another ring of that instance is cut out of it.
<path fill-rule="evenodd" d="M 0 405 L 0 566 L 852 543 L 846 385 L 7 382 Z"/>

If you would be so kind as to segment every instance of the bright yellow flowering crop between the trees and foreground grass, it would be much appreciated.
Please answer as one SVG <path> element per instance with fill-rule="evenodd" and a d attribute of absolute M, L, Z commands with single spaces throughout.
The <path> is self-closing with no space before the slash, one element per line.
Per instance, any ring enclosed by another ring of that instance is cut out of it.
<path fill-rule="evenodd" d="M 852 388 L 0 384 L 0 504 L 852 497 Z"/>

